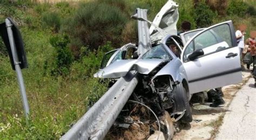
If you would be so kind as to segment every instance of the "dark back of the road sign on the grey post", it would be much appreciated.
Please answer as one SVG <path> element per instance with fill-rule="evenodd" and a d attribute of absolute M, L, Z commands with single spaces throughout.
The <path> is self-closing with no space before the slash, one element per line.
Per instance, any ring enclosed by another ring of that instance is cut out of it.
<path fill-rule="evenodd" d="M 19 32 L 18 27 L 16 26 L 15 22 L 11 18 L 7 18 L 7 20 L 9 20 L 9 22 L 12 25 L 11 30 L 12 30 L 13 38 L 11 39 L 14 40 L 14 46 L 16 47 L 16 50 L 17 50 L 19 66 L 21 67 L 21 69 L 28 68 L 28 61 L 26 60 L 26 54 L 24 50 L 24 44 L 23 44 L 21 32 Z M 8 31 L 6 27 L 7 27 L 6 22 L 0 24 L 0 35 L 4 41 L 4 45 L 7 48 L 12 69 L 15 70 L 14 58 L 11 52 L 10 38 L 8 37 Z"/>

